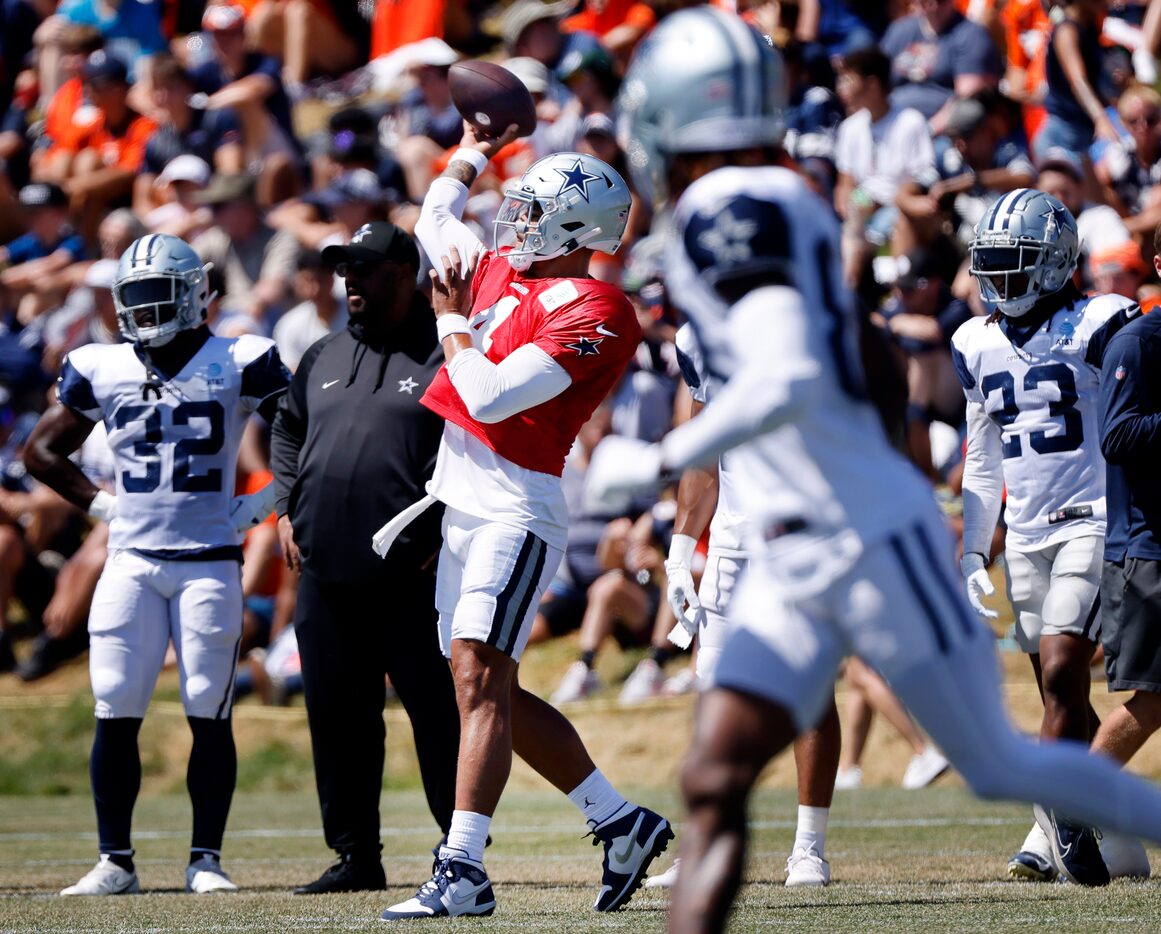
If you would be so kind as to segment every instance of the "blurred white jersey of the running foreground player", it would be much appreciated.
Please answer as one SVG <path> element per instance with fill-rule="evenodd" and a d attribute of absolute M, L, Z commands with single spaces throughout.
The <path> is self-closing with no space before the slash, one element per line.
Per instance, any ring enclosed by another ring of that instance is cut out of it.
<path fill-rule="evenodd" d="M 666 437 L 665 464 L 752 439 L 730 472 L 755 555 L 795 530 L 871 544 L 929 505 L 864 390 L 838 223 L 819 196 L 786 168 L 721 168 L 685 192 L 675 228 L 669 292 L 723 387 Z"/>

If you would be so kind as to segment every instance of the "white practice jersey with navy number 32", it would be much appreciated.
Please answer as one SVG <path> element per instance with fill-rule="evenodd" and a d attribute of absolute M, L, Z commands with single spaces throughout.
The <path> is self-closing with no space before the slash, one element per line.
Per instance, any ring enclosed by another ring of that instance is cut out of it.
<path fill-rule="evenodd" d="M 150 374 L 131 344 L 70 353 L 60 402 L 103 422 L 116 473 L 109 548 L 157 555 L 236 547 L 230 519 L 246 419 L 286 390 L 289 374 L 265 337 L 210 337 L 171 380 Z"/>

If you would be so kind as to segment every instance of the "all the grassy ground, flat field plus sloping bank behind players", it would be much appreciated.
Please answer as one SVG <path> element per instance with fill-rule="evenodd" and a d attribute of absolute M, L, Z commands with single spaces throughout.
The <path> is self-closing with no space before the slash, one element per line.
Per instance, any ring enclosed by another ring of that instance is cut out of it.
<path fill-rule="evenodd" d="M 521 666 L 521 682 L 547 695 L 575 656 L 563 640 L 538 647 Z M 640 654 L 603 653 L 601 676 L 616 684 Z M 1027 662 L 1004 653 L 1008 706 L 1034 732 L 1040 704 Z M 431 871 L 438 831 L 418 792 L 406 718 L 387 711 L 388 773 L 382 820 L 385 893 L 294 897 L 330 863 L 313 793 L 309 734 L 301 699 L 287 709 L 252 700 L 238 706 L 239 792 L 225 843 L 225 867 L 237 896 L 182 892 L 189 804 L 189 749 L 176 680 L 163 674 L 142 731 L 144 783 L 135 819 L 142 896 L 62 899 L 57 892 L 95 860 L 87 761 L 92 698 L 82 662 L 44 682 L 0 677 L 0 933 L 2 932 L 291 932 L 383 929 L 378 912 L 410 896 Z M 610 688 L 568 710 L 593 757 L 644 804 L 680 822 L 676 774 L 688 743 L 692 699 L 671 698 L 625 709 Z M 839 710 L 844 692 L 839 687 Z M 1097 683 L 1093 702 L 1104 714 L 1123 697 Z M 1104 890 L 1027 885 L 1004 879 L 1007 858 L 1030 826 L 1027 809 L 973 799 L 956 775 L 935 788 L 901 791 L 909 749 L 878 725 L 864 757 L 865 788 L 839 792 L 828 838 L 834 883 L 823 891 L 787 890 L 783 867 L 793 840 L 793 757 L 777 759 L 752 807 L 748 884 L 731 929 L 757 932 L 1161 931 L 1161 885 L 1118 882 Z M 1148 743 L 1133 768 L 1161 778 L 1161 742 Z M 679 827 L 678 827 L 679 829 Z M 591 911 L 600 850 L 560 795 L 546 790 L 522 763 L 513 769 L 493 825 L 488 868 L 498 908 L 490 919 L 456 921 L 457 929 L 554 934 L 664 928 L 664 892 L 641 891 L 614 915 Z M 669 865 L 665 854 L 654 871 Z M 1159 852 L 1151 850 L 1155 867 Z M 403 929 L 441 931 L 420 922 Z M 399 926 L 396 927 L 399 929 Z"/>

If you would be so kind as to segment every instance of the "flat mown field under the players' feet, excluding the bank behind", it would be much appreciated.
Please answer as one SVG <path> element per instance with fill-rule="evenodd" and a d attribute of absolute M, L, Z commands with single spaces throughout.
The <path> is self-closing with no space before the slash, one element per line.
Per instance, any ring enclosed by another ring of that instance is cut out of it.
<path fill-rule="evenodd" d="M 643 802 L 677 812 L 671 793 Z M 237 896 L 181 893 L 189 809 L 183 796 L 145 798 L 136 843 L 145 892 L 113 899 L 62 899 L 56 892 L 93 862 L 91 804 L 79 796 L 0 798 L 0 931 L 289 932 L 365 931 L 382 926 L 387 904 L 411 895 L 430 872 L 437 831 L 412 791 L 383 798 L 385 893 L 295 897 L 290 886 L 329 861 L 313 796 L 244 793 L 235 803 L 225 865 Z M 1021 807 L 983 804 L 960 788 L 841 793 L 828 845 L 835 881 L 823 891 L 787 890 L 783 863 L 793 839 L 794 798 L 763 791 L 752 809 L 748 884 L 731 929 L 793 931 L 1132 931 L 1161 929 L 1161 886 L 1118 882 L 1105 890 L 1002 881 L 1003 863 L 1027 826 Z M 600 852 L 558 795 L 505 797 L 488 865 L 497 886 L 491 919 L 456 929 L 656 932 L 666 896 L 641 891 L 612 915 L 591 911 Z M 1153 852 L 1155 860 L 1156 852 Z M 670 854 L 659 865 L 668 865 Z M 446 922 L 413 928 L 438 931 Z M 406 927 L 406 926 L 404 926 Z"/>

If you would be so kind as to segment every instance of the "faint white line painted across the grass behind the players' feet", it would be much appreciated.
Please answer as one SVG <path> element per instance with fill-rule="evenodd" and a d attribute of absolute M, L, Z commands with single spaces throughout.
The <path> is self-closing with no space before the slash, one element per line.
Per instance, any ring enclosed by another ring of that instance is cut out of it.
<path fill-rule="evenodd" d="M 890 829 L 908 827 L 1007 827 L 1010 825 L 1027 824 L 1026 817 L 976 817 L 976 818 L 884 818 L 881 820 L 830 820 L 830 827 L 852 827 L 854 829 Z M 680 825 L 676 825 L 680 827 Z M 796 822 L 793 820 L 756 820 L 750 825 L 755 831 L 784 831 L 793 829 Z M 380 827 L 382 836 L 431 836 L 434 829 L 431 827 Z M 575 824 L 536 824 L 536 825 L 497 825 L 497 832 L 509 835 L 543 835 L 546 833 L 570 834 L 579 833 Z M 95 834 L 91 832 L 77 833 L 73 831 L 62 831 L 59 833 L 34 833 L 23 831 L 12 831 L 0 833 L 0 843 L 8 842 L 36 842 L 44 840 L 92 840 Z M 136 840 L 185 840 L 189 836 L 188 829 L 181 831 L 134 831 Z M 318 836 L 322 839 L 322 828 L 307 829 L 303 827 L 273 828 L 262 827 L 248 831 L 226 831 L 230 840 L 277 840 L 288 838 Z"/>

